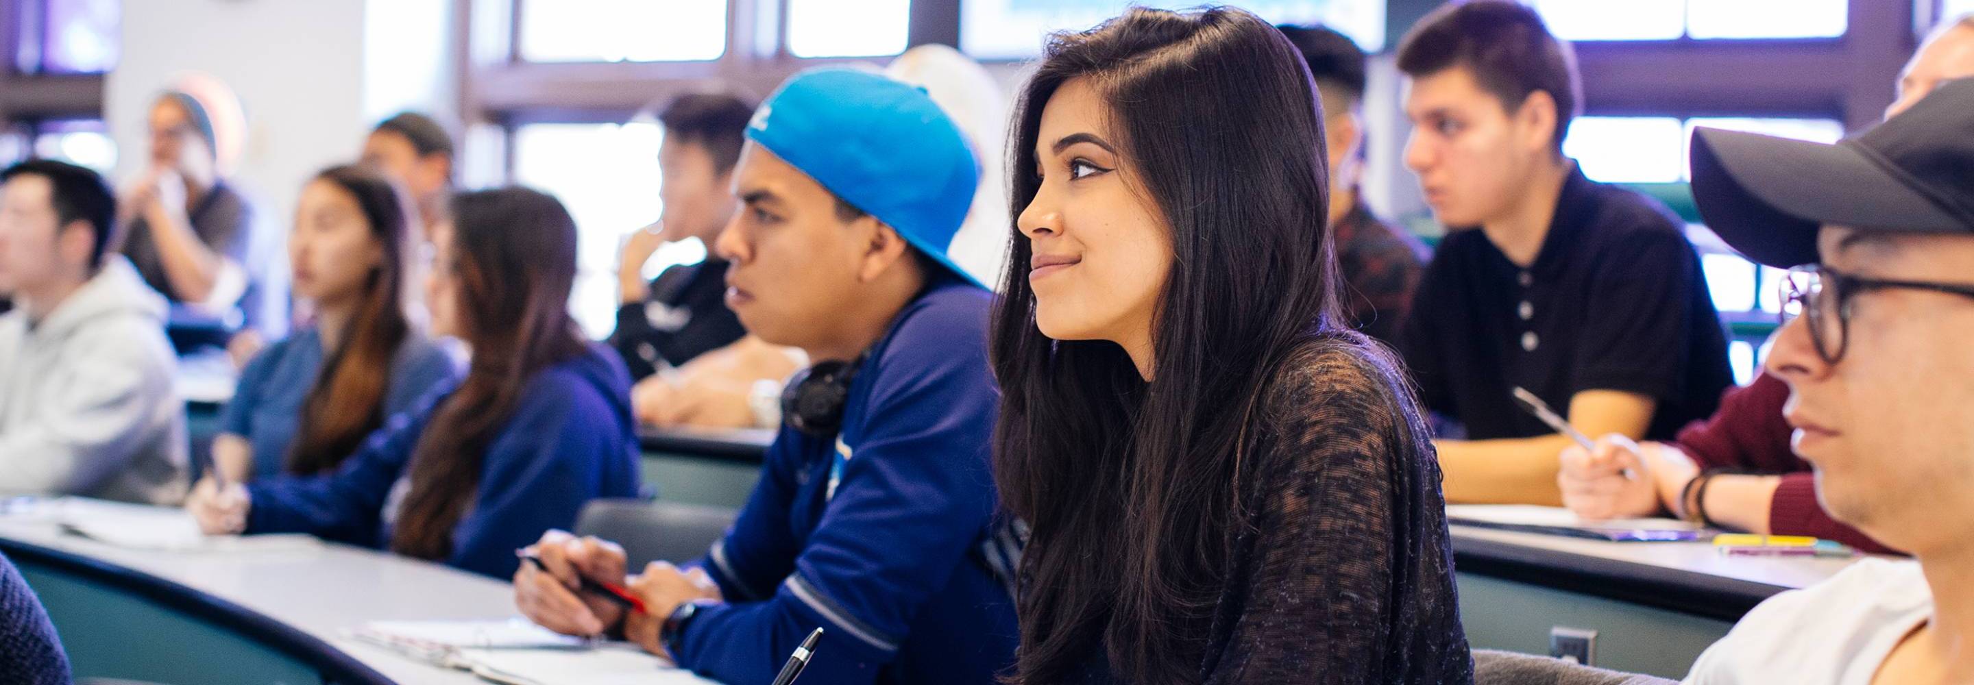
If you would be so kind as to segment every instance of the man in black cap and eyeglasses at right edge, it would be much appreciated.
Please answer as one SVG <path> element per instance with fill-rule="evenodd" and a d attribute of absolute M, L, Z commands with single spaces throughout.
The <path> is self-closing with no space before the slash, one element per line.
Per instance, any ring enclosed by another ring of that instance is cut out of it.
<path fill-rule="evenodd" d="M 1867 559 L 1749 612 L 1688 683 L 1974 681 L 1974 81 L 1838 144 L 1694 134 L 1694 199 L 1796 266 L 1769 373 L 1830 513 Z"/>

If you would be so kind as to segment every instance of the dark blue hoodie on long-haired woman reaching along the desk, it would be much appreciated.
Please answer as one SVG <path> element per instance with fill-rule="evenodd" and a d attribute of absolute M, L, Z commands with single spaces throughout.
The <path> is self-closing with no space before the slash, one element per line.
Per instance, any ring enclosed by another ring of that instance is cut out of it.
<path fill-rule="evenodd" d="M 268 478 L 247 484 L 253 505 L 247 533 L 314 533 L 324 539 L 383 547 L 391 541 L 411 452 L 440 401 L 391 417 L 334 474 Z M 594 497 L 638 495 L 638 434 L 630 415 L 630 375 L 602 345 L 551 365 L 521 391 L 513 415 L 494 436 L 480 466 L 480 492 L 452 529 L 446 565 L 511 578 L 515 549 L 549 529 L 572 529 Z M 389 509 L 389 511 L 387 511 Z"/>

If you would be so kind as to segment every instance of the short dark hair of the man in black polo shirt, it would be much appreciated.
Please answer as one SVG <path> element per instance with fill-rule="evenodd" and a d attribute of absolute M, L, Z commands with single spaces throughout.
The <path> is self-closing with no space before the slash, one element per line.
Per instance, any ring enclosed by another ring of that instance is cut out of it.
<path fill-rule="evenodd" d="M 1467 67 L 1480 89 L 1514 111 L 1542 91 L 1556 101 L 1552 144 L 1563 150 L 1583 87 L 1569 43 L 1556 39 L 1534 8 L 1512 0 L 1473 0 L 1433 10 L 1398 45 L 1398 71 L 1417 79 Z"/>

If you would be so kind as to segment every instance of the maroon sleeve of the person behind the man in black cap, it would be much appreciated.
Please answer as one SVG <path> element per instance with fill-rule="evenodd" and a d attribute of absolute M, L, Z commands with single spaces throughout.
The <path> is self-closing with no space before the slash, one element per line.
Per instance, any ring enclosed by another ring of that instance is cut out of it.
<path fill-rule="evenodd" d="M 1783 420 L 1788 385 L 1763 373 L 1745 387 L 1727 389 L 1721 409 L 1680 430 L 1678 446 L 1708 468 L 1735 468 L 1783 476 L 1769 503 L 1769 531 L 1814 535 L 1867 553 L 1897 553 L 1858 529 L 1838 523 L 1816 501 L 1816 474 L 1788 448 L 1792 428 Z"/>

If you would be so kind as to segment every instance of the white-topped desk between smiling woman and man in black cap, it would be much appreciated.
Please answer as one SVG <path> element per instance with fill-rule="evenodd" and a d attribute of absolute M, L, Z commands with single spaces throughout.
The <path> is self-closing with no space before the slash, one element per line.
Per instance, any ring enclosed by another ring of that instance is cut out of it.
<path fill-rule="evenodd" d="M 1477 649 L 1550 653 L 1550 628 L 1597 630 L 1595 665 L 1672 679 L 1761 600 L 1856 561 L 1721 557 L 1709 543 L 1451 531 L 1461 622 Z"/>

